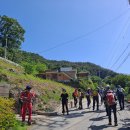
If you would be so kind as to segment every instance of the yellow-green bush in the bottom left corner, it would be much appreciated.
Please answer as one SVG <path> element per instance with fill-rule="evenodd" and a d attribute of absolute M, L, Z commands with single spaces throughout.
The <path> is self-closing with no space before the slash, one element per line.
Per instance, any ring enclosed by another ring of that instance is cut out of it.
<path fill-rule="evenodd" d="M 16 126 L 17 120 L 13 111 L 13 99 L 5 99 L 0 97 L 0 129 L 8 130 Z"/>

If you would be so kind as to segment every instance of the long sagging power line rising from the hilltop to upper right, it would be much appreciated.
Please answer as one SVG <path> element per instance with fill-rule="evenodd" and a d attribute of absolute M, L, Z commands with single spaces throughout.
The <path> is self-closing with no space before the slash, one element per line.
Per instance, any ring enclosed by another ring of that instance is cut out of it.
<path fill-rule="evenodd" d="M 57 45 L 55 45 L 55 46 L 53 46 L 53 47 L 51 47 L 51 48 L 45 49 L 45 50 L 40 51 L 40 52 L 37 52 L 37 53 L 43 53 L 43 52 L 51 51 L 51 50 L 53 50 L 53 49 L 55 49 L 55 48 L 57 48 L 57 47 L 64 46 L 64 45 L 66 45 L 66 44 L 69 44 L 69 43 L 72 43 L 72 42 L 77 41 L 77 40 L 79 40 L 79 39 L 82 39 L 82 38 L 84 38 L 84 37 L 86 37 L 86 36 L 88 36 L 88 35 L 90 35 L 90 34 L 92 34 L 92 33 L 95 33 L 95 32 L 97 32 L 98 30 L 104 28 L 105 26 L 109 25 L 110 23 L 112 23 L 112 22 L 116 21 L 117 19 L 119 19 L 120 17 L 122 17 L 124 14 L 126 14 L 126 12 L 127 12 L 128 10 L 129 10 L 129 9 L 125 10 L 122 14 L 120 14 L 120 15 L 118 15 L 117 17 L 113 18 L 111 21 L 109 21 L 109 22 L 107 22 L 107 23 L 105 23 L 105 24 L 103 24 L 103 25 L 97 27 L 96 29 L 94 29 L 94 30 L 92 30 L 92 31 L 90 31 L 90 32 L 87 32 L 87 33 L 84 34 L 84 35 L 75 37 L 74 39 L 71 39 L 71 40 L 68 40 L 68 41 L 65 41 L 65 42 L 62 42 L 62 43 L 59 43 L 59 44 L 57 44 Z"/>

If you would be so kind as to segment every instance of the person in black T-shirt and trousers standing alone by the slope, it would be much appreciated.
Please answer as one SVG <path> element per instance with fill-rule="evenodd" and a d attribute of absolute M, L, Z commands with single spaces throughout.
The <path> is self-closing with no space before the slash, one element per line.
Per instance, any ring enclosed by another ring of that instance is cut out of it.
<path fill-rule="evenodd" d="M 65 114 L 65 108 L 66 108 L 67 115 L 69 115 L 69 110 L 68 110 L 68 97 L 69 96 L 64 88 L 62 89 L 62 94 L 60 97 L 62 100 L 62 113 L 63 115 Z"/>

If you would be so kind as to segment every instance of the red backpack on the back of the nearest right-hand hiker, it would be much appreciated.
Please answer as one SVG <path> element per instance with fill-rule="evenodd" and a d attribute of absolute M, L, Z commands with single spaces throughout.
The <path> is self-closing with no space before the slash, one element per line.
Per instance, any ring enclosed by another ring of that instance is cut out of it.
<path fill-rule="evenodd" d="M 113 93 L 107 93 L 106 102 L 108 106 L 116 104 L 115 96 Z"/>

